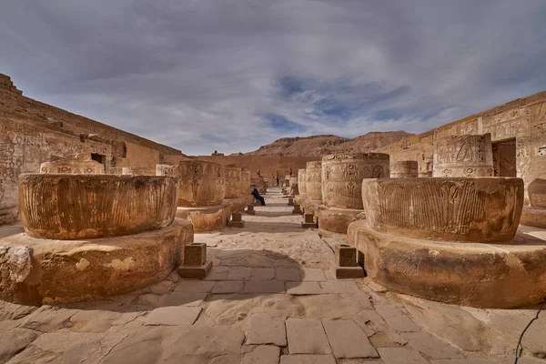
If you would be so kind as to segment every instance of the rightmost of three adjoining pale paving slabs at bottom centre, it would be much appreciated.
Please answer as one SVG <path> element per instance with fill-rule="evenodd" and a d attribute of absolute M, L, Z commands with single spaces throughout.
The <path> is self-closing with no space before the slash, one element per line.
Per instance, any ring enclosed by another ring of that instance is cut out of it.
<path fill-rule="evenodd" d="M 368 336 L 353 320 L 322 321 L 322 325 L 336 358 L 379 358 Z"/>

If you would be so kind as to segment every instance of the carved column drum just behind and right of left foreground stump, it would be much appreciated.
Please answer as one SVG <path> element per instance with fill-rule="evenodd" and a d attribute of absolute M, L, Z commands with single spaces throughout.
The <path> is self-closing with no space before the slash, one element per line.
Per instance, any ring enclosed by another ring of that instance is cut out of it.
<path fill-rule="evenodd" d="M 178 178 L 178 207 L 220 205 L 226 194 L 224 167 L 203 160 L 182 160 L 177 166 L 157 165 L 157 176 Z"/>

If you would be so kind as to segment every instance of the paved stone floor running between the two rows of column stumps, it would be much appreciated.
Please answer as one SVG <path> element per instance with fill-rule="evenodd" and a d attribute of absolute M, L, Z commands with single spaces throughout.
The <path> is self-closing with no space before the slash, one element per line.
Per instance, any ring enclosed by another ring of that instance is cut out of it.
<path fill-rule="evenodd" d="M 332 247 L 344 236 L 302 229 L 302 217 L 270 190 L 244 228 L 196 235 L 214 261 L 206 280 L 172 274 L 63 307 L 0 303 L 0 363 L 514 362 L 535 308 L 460 308 L 367 278 L 335 280 Z M 519 363 L 546 363 L 546 312 L 522 342 Z"/>

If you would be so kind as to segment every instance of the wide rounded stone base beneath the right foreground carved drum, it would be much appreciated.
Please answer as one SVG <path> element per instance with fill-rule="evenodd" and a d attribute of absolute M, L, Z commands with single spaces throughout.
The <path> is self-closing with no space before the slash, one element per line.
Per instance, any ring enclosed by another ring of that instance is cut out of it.
<path fill-rule="evenodd" d="M 523 234 L 502 244 L 440 242 L 358 220 L 347 240 L 363 253 L 368 277 L 390 291 L 476 308 L 520 308 L 546 297 L 546 244 Z"/>

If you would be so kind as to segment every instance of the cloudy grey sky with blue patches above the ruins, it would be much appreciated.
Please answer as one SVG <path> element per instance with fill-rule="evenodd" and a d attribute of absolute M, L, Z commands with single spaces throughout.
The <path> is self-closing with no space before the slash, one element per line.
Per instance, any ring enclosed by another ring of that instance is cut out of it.
<path fill-rule="evenodd" d="M 544 19 L 544 0 L 0 0 L 0 73 L 189 155 L 246 152 L 540 92 Z"/>

